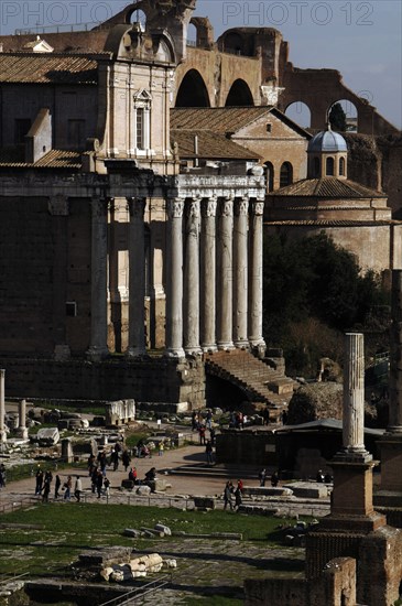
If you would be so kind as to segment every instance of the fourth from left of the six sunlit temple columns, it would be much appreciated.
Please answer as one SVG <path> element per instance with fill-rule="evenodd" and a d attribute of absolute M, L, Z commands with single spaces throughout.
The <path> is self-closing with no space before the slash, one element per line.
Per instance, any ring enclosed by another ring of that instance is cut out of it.
<path fill-rule="evenodd" d="M 233 349 L 232 340 L 232 257 L 233 257 L 233 198 L 221 201 L 217 249 L 217 297 L 219 315 L 217 326 L 218 349 Z"/>

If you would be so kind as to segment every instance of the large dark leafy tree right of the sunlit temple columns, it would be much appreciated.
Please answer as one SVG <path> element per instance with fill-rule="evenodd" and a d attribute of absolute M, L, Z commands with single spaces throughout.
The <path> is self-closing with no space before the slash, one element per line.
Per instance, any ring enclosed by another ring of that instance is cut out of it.
<path fill-rule="evenodd" d="M 264 241 L 263 335 L 282 347 L 286 364 L 311 371 L 323 356 L 339 357 L 341 333 L 362 329 L 371 311 L 389 303 L 379 277 L 361 275 L 356 257 L 324 232 Z"/>

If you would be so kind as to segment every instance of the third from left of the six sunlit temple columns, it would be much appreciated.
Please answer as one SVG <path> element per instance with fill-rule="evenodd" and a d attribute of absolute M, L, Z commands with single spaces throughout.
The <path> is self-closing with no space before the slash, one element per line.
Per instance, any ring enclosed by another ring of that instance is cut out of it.
<path fill-rule="evenodd" d="M 202 229 L 202 348 L 216 351 L 216 196 L 203 206 Z"/>

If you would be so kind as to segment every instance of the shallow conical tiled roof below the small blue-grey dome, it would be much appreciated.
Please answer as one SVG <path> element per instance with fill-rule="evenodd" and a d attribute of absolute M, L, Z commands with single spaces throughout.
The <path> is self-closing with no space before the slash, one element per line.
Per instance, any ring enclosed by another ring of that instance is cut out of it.
<path fill-rule="evenodd" d="M 329 198 L 384 198 L 383 192 L 365 187 L 354 181 L 327 176 L 325 178 L 303 178 L 286 187 L 281 187 L 270 196 L 308 196 Z"/>

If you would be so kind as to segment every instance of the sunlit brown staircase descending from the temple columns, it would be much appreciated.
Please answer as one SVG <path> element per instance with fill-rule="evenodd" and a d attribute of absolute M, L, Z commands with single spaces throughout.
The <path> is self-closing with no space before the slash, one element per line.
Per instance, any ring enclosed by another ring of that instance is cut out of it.
<path fill-rule="evenodd" d="M 265 404 L 272 411 L 273 421 L 287 407 L 293 393 L 292 379 L 243 349 L 206 354 L 205 368 L 207 375 L 239 387 L 250 402 Z"/>

